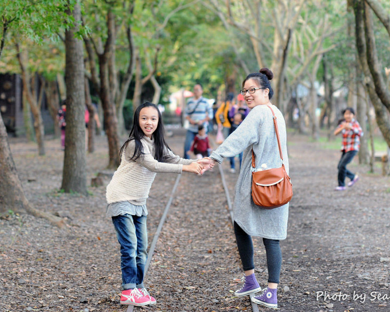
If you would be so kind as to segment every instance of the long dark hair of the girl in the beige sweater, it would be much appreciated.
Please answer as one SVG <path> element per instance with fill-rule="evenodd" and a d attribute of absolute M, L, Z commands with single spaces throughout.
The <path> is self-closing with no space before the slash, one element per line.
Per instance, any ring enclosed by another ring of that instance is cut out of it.
<path fill-rule="evenodd" d="M 141 138 L 144 137 L 144 133 L 141 129 L 141 127 L 139 126 L 139 113 L 141 111 L 142 108 L 144 107 L 153 107 L 156 109 L 157 113 L 158 113 L 158 123 L 157 123 L 157 128 L 155 130 L 155 132 L 153 133 L 153 138 L 155 139 L 155 159 L 157 161 L 164 161 L 164 148 L 169 148 L 168 144 L 165 142 L 165 139 L 164 139 L 164 125 L 162 123 L 162 116 L 161 116 L 161 113 L 160 113 L 160 110 L 158 109 L 158 107 L 151 103 L 151 102 L 144 102 L 142 103 L 141 105 L 139 105 L 136 109 L 136 111 L 134 112 L 134 121 L 133 121 L 133 127 L 131 128 L 130 130 L 130 134 L 129 134 L 129 137 L 127 138 L 126 142 L 123 143 L 122 147 L 120 148 L 120 151 L 119 151 L 119 156 L 121 157 L 122 156 L 122 153 L 123 153 L 123 150 L 124 148 L 126 147 L 127 143 L 130 142 L 131 140 L 134 140 L 134 142 L 136 143 L 136 148 L 134 150 L 134 154 L 133 156 L 130 158 L 131 160 L 136 160 L 141 154 L 145 154 L 143 152 L 143 147 L 142 147 L 142 143 L 141 143 Z"/>

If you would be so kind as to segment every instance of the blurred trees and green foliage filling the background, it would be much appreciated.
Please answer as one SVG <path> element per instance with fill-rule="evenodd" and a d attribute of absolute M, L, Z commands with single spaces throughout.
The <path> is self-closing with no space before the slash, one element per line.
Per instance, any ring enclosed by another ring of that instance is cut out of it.
<path fill-rule="evenodd" d="M 92 101 L 101 108 L 113 169 L 142 101 L 167 104 L 195 83 L 222 101 L 262 67 L 273 70 L 273 103 L 289 127 L 313 140 L 321 129 L 331 139 L 341 109 L 354 107 L 369 134 L 359 160 L 372 168 L 373 136 L 390 146 L 389 12 L 385 0 L 5 0 L 0 72 L 21 75 L 24 128 L 37 156 L 46 153 L 42 98 L 53 118 L 66 99 L 64 192 L 87 194 L 85 105 L 90 114 Z M 62 225 L 23 195 L 2 118 L 0 176 L 0 213 L 27 211 Z"/>

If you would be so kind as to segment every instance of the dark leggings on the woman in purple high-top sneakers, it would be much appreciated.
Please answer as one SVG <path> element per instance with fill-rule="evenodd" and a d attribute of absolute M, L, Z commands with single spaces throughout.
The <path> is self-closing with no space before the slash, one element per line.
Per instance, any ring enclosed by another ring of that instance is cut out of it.
<path fill-rule="evenodd" d="M 234 221 L 234 234 L 237 241 L 244 271 L 254 269 L 252 238 Z M 282 266 L 282 251 L 279 240 L 263 238 L 267 255 L 268 282 L 279 284 L 280 268 Z"/>

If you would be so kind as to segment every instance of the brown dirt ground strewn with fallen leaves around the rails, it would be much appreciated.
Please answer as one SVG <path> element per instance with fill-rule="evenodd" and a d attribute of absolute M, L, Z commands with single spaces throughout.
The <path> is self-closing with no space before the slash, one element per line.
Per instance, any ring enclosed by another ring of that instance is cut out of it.
<path fill-rule="evenodd" d="M 181 155 L 183 133 L 174 133 L 168 144 Z M 379 168 L 369 174 L 356 157 L 350 169 L 360 180 L 335 192 L 339 152 L 297 134 L 288 141 L 294 195 L 288 237 L 281 242 L 279 311 L 389 311 L 390 178 Z M 105 138 L 97 142 L 87 156 L 89 181 L 108 163 Z M 11 138 L 10 144 L 30 202 L 68 225 L 59 229 L 29 215 L 0 219 L 0 311 L 126 311 L 119 304 L 119 245 L 104 216 L 105 185 L 89 187 L 89 196 L 63 194 L 59 139 L 46 140 L 43 157 L 34 143 Z M 238 173 L 229 172 L 228 161 L 222 166 L 233 199 Z M 153 183 L 149 242 L 175 180 L 159 174 Z M 135 311 L 251 311 L 249 297 L 233 294 L 243 273 L 229 217 L 217 169 L 204 176 L 184 173 L 145 277 L 157 305 Z M 254 245 L 256 277 L 265 287 L 261 239 Z"/>

